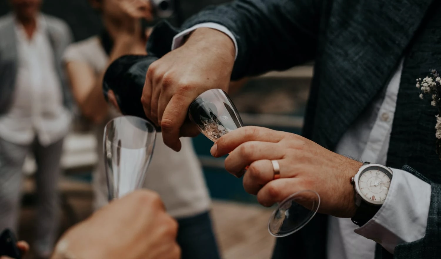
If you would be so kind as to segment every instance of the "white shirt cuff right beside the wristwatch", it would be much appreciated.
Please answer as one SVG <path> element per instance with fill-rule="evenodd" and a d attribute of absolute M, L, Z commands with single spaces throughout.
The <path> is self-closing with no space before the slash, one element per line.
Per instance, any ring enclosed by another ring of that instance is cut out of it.
<path fill-rule="evenodd" d="M 354 231 L 393 254 L 398 244 L 424 237 L 432 188 L 404 170 L 392 169 L 392 172 L 385 203 L 374 218 Z"/>

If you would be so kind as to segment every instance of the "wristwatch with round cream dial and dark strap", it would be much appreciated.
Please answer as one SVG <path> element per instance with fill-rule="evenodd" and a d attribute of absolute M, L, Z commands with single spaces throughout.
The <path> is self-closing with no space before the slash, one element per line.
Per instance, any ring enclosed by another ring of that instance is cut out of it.
<path fill-rule="evenodd" d="M 356 225 L 367 223 L 381 208 L 389 192 L 392 170 L 380 164 L 365 162 L 351 184 L 355 189 L 355 205 L 358 207 L 351 218 Z"/>

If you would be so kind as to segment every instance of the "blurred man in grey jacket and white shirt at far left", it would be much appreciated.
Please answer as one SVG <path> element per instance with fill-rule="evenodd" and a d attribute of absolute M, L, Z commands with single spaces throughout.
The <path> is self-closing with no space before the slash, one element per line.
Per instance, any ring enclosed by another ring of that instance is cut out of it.
<path fill-rule="evenodd" d="M 47 258 L 58 226 L 57 180 L 71 112 L 62 54 L 67 24 L 40 13 L 41 0 L 11 0 L 0 19 L 0 229 L 17 230 L 22 166 L 37 163 L 35 252 Z"/>

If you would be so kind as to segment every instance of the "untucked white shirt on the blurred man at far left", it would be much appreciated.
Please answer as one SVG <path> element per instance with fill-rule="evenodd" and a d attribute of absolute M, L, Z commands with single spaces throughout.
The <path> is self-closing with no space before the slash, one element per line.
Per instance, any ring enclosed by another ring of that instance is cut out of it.
<path fill-rule="evenodd" d="M 15 32 L 18 62 L 14 99 L 8 113 L 0 116 L 0 138 L 29 145 L 38 137 L 41 145 L 48 146 L 67 134 L 71 113 L 63 105 L 45 20 L 37 19 L 30 39 L 18 22 Z"/>

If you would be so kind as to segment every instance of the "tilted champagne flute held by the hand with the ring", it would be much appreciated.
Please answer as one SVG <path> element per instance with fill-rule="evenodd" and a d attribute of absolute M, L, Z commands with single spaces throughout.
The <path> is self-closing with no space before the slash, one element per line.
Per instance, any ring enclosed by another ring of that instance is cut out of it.
<path fill-rule="evenodd" d="M 191 103 L 188 115 L 199 131 L 213 142 L 229 131 L 243 127 L 235 105 L 221 89 L 199 95 Z M 269 218 L 269 233 L 276 237 L 295 233 L 314 217 L 319 205 L 320 196 L 316 191 L 303 190 L 290 195 L 278 204 Z"/>

